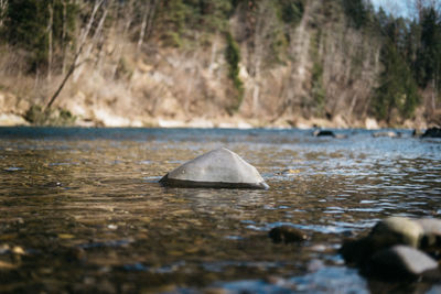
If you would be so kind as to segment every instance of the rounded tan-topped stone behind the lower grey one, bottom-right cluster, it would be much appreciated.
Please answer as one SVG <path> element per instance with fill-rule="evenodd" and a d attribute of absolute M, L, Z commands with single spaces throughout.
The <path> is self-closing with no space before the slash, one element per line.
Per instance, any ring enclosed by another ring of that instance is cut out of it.
<path fill-rule="evenodd" d="M 378 250 L 395 244 L 417 248 L 422 236 L 423 229 L 417 221 L 405 217 L 389 217 L 373 228 L 369 238 Z"/>

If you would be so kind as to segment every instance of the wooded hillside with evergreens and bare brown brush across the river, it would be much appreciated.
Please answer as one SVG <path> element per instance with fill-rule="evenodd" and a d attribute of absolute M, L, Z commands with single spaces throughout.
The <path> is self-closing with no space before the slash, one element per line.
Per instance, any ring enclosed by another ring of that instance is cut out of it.
<path fill-rule="evenodd" d="M 440 124 L 441 1 L 407 8 L 0 0 L 0 113 L 55 126 Z"/>

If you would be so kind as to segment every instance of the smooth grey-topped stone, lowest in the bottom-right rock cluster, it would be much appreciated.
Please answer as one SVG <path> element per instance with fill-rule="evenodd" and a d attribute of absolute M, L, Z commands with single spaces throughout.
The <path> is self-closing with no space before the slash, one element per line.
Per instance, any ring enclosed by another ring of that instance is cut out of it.
<path fill-rule="evenodd" d="M 438 262 L 408 246 L 394 246 L 372 257 L 370 271 L 383 277 L 419 276 L 424 272 L 438 271 Z"/>

